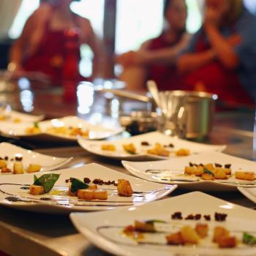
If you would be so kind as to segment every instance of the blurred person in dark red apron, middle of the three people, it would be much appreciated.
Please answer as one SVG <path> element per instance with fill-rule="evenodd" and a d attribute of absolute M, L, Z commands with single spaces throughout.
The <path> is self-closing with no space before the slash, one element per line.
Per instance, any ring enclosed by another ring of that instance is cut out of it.
<path fill-rule="evenodd" d="M 120 79 L 127 83 L 127 89 L 146 89 L 148 79 L 155 80 L 160 90 L 179 89 L 176 57 L 190 39 L 186 31 L 186 2 L 166 0 L 164 18 L 165 28 L 159 37 L 144 42 L 138 51 L 117 57 L 117 63 L 124 67 Z"/>

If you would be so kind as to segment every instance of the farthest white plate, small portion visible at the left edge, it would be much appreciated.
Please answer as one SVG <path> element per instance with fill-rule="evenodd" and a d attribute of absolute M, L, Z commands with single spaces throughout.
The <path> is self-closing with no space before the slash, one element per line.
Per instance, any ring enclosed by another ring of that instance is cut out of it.
<path fill-rule="evenodd" d="M 8 123 L 26 123 L 26 122 L 35 122 L 35 121 L 41 121 L 44 118 L 43 115 L 41 116 L 33 116 L 26 113 L 20 113 L 15 110 L 9 110 L 6 109 L 0 109 L 0 124 L 1 126 L 7 122 Z"/>

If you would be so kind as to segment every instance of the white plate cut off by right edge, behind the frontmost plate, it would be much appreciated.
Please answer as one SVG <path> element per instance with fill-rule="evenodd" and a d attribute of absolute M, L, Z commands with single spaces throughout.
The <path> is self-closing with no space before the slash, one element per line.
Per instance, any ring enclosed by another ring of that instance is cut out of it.
<path fill-rule="evenodd" d="M 233 191 L 236 187 L 256 187 L 256 181 L 238 180 L 231 176 L 227 180 L 203 181 L 200 178 L 181 176 L 184 173 L 184 167 L 189 165 L 189 162 L 199 165 L 203 163 L 219 163 L 220 165 L 231 164 L 233 173 L 236 170 L 256 171 L 256 163 L 232 157 L 219 152 L 205 152 L 194 154 L 189 157 L 176 159 L 154 161 L 154 162 L 127 162 L 122 161 L 124 167 L 133 175 L 155 181 L 162 184 L 178 184 L 178 187 L 189 190 L 200 191 Z M 173 181 L 171 181 L 173 179 Z M 178 179 L 184 179 L 181 181 Z"/>

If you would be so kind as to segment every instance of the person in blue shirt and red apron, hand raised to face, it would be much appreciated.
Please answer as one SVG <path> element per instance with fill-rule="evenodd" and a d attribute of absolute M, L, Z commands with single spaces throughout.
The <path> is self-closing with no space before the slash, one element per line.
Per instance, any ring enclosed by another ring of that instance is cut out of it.
<path fill-rule="evenodd" d="M 206 0 L 203 26 L 178 59 L 184 89 L 218 94 L 232 106 L 254 105 L 255 28 L 242 0 Z"/>

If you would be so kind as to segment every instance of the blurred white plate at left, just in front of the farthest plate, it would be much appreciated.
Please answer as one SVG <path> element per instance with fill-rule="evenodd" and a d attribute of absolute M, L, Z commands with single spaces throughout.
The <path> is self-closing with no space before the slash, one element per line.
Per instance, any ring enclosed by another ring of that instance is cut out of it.
<path fill-rule="evenodd" d="M 64 118 L 40 121 L 38 123 L 41 132 L 37 134 L 26 134 L 26 129 L 34 127 L 34 123 L 26 124 L 4 124 L 0 130 L 5 135 L 11 135 L 19 138 L 27 138 L 31 140 L 48 140 L 48 141 L 76 141 L 77 136 L 65 135 L 61 133 L 49 132 L 52 127 L 79 127 L 82 130 L 89 130 L 88 140 L 101 140 L 110 136 L 123 132 L 123 128 L 109 129 L 99 125 L 89 124 L 89 122 L 78 118 L 77 116 L 67 116 Z"/>

